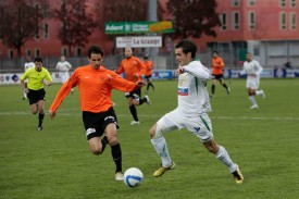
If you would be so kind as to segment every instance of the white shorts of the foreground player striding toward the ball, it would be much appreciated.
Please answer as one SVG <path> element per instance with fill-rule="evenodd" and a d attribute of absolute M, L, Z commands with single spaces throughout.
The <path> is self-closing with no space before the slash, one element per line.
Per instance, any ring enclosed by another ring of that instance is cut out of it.
<path fill-rule="evenodd" d="M 162 136 L 163 133 L 174 129 L 187 128 L 190 133 L 197 136 L 201 142 L 207 142 L 213 139 L 212 123 L 208 114 L 186 117 L 178 109 L 171 111 L 162 116 L 158 122 L 159 132 L 157 136 Z"/>

